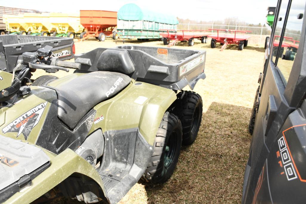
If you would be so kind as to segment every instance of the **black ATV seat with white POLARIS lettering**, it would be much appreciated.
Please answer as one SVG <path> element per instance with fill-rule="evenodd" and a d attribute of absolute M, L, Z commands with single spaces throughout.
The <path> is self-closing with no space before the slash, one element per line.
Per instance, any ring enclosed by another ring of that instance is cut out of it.
<path fill-rule="evenodd" d="M 96 71 L 52 87 L 58 94 L 58 117 L 74 129 L 95 105 L 120 92 L 131 81 L 125 74 Z"/>

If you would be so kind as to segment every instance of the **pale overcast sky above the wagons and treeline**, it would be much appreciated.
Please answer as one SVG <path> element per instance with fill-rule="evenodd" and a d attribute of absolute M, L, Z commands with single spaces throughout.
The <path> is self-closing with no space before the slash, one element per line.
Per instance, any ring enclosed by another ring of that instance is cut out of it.
<path fill-rule="evenodd" d="M 223 20 L 226 17 L 237 17 L 248 23 L 263 24 L 266 21 L 268 6 L 276 6 L 277 0 L 0 0 L 0 6 L 62 13 L 78 13 L 79 10 L 118 11 L 121 6 L 127 3 L 135 3 L 140 7 L 168 13 L 183 19 L 213 21 Z"/>

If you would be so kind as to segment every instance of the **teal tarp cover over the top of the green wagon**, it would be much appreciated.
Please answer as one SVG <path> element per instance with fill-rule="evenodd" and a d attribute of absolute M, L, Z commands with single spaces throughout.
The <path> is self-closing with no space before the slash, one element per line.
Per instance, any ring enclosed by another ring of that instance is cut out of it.
<path fill-rule="evenodd" d="M 166 23 L 173 25 L 178 24 L 177 18 L 174 16 L 154 11 L 149 11 L 146 9 L 141 9 L 136 4 L 125 4 L 119 9 L 117 16 L 118 20 L 125 20 L 125 21 L 144 20 L 144 21 L 154 21 L 158 23 Z"/>

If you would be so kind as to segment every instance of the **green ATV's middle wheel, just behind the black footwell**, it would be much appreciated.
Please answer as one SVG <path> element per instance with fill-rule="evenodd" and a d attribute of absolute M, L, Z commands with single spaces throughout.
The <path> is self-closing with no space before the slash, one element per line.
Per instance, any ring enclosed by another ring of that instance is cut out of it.
<path fill-rule="evenodd" d="M 164 183 L 173 174 L 182 143 L 181 121 L 169 112 L 162 118 L 153 145 L 153 154 L 144 177 L 152 183 Z"/>

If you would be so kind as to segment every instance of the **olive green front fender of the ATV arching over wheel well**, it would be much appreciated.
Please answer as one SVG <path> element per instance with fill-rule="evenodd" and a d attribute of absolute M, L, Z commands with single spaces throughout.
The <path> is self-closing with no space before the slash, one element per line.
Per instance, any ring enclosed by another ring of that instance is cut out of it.
<path fill-rule="evenodd" d="M 31 203 L 57 186 L 73 173 L 80 173 L 95 181 L 105 195 L 105 188 L 98 172 L 71 149 L 65 149 L 50 160 L 50 167 L 32 180 L 32 185 L 17 192 L 4 203 Z"/>

